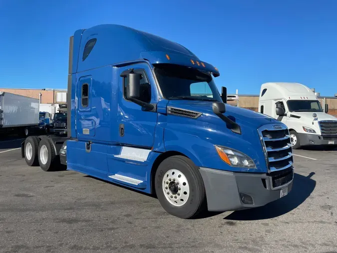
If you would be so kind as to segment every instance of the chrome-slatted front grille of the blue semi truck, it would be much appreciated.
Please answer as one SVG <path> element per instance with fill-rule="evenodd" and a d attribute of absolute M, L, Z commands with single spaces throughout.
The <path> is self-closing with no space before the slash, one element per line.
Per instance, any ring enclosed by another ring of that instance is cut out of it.
<path fill-rule="evenodd" d="M 260 127 L 258 131 L 265 152 L 268 172 L 292 167 L 294 160 L 289 130 L 280 124 L 268 124 Z"/>

